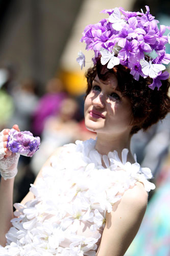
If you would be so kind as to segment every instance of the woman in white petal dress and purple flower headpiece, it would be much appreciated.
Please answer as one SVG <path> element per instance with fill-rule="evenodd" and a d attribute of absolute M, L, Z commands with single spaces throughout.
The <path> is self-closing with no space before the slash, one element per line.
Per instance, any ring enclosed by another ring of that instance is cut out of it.
<path fill-rule="evenodd" d="M 6 156 L 1 174 L 11 179 L 2 178 L 0 187 L 2 246 L 7 239 L 0 255 L 124 255 L 139 229 L 147 191 L 155 185 L 148 181 L 151 170 L 132 156 L 130 140 L 169 111 L 168 75 L 161 72 L 169 56 L 160 53 L 167 37 L 158 33 L 148 7 L 146 14 L 122 8 L 105 12 L 110 21 L 88 26 L 82 39 L 95 53 L 94 67 L 86 73 L 84 113 L 86 127 L 97 139 L 58 148 L 28 195 L 15 204 L 11 228 L 17 159 L 6 148 L 9 130 L 2 133 Z M 122 49 L 114 56 L 117 42 Z M 157 59 L 144 58 L 150 49 L 158 52 Z M 78 60 L 84 64 L 82 53 Z"/>

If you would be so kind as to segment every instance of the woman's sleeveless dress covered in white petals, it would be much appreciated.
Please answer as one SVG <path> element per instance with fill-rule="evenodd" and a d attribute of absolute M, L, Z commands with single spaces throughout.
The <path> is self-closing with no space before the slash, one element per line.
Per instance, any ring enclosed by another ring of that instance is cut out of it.
<path fill-rule="evenodd" d="M 155 185 L 149 168 L 120 161 L 116 151 L 101 156 L 96 141 L 67 144 L 59 157 L 51 158 L 43 176 L 30 190 L 35 199 L 14 204 L 12 227 L 0 256 L 93 256 L 99 247 L 106 211 L 136 181 L 150 191 Z M 102 166 L 102 160 L 106 167 Z"/>

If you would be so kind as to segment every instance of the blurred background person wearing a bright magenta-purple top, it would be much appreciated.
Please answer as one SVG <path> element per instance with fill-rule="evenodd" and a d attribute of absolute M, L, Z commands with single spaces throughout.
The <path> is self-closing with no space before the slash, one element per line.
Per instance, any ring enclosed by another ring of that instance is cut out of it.
<path fill-rule="evenodd" d="M 31 130 L 36 136 L 41 136 L 46 119 L 59 113 L 61 102 L 67 97 L 64 85 L 59 78 L 50 79 L 45 90 L 46 93 L 38 101 L 33 114 Z"/>

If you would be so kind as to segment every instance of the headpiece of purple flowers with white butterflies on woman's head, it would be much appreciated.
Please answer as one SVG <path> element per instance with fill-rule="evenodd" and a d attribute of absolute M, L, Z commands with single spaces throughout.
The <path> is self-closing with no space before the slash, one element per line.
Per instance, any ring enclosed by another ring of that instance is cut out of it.
<path fill-rule="evenodd" d="M 93 63 L 101 58 L 102 65 L 108 69 L 116 65 L 124 65 L 130 69 L 135 80 L 139 76 L 153 78 L 149 86 L 159 90 L 161 80 L 166 80 L 169 74 L 165 65 L 170 62 L 170 54 L 165 52 L 165 45 L 170 44 L 170 33 L 164 35 L 170 27 L 160 25 L 159 21 L 147 11 L 129 12 L 122 7 L 103 10 L 109 18 L 99 23 L 88 25 L 84 29 L 81 42 L 86 43 L 86 50 L 94 51 Z M 79 51 L 77 61 L 85 66 L 85 55 Z M 146 57 L 147 56 L 147 57 Z M 163 72 L 164 71 L 164 72 Z"/>

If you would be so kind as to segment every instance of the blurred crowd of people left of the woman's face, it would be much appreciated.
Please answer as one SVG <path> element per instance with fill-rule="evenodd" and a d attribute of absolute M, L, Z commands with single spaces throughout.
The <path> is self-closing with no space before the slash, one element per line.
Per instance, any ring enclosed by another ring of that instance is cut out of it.
<path fill-rule="evenodd" d="M 84 124 L 84 95 L 70 95 L 57 77 L 42 88 L 34 79 L 18 82 L 15 77 L 11 67 L 0 69 L 0 129 L 18 124 L 20 131 L 31 131 L 41 138 L 40 148 L 32 158 L 20 156 L 14 188 L 14 202 L 19 202 L 57 147 L 95 138 L 95 133 Z"/>

